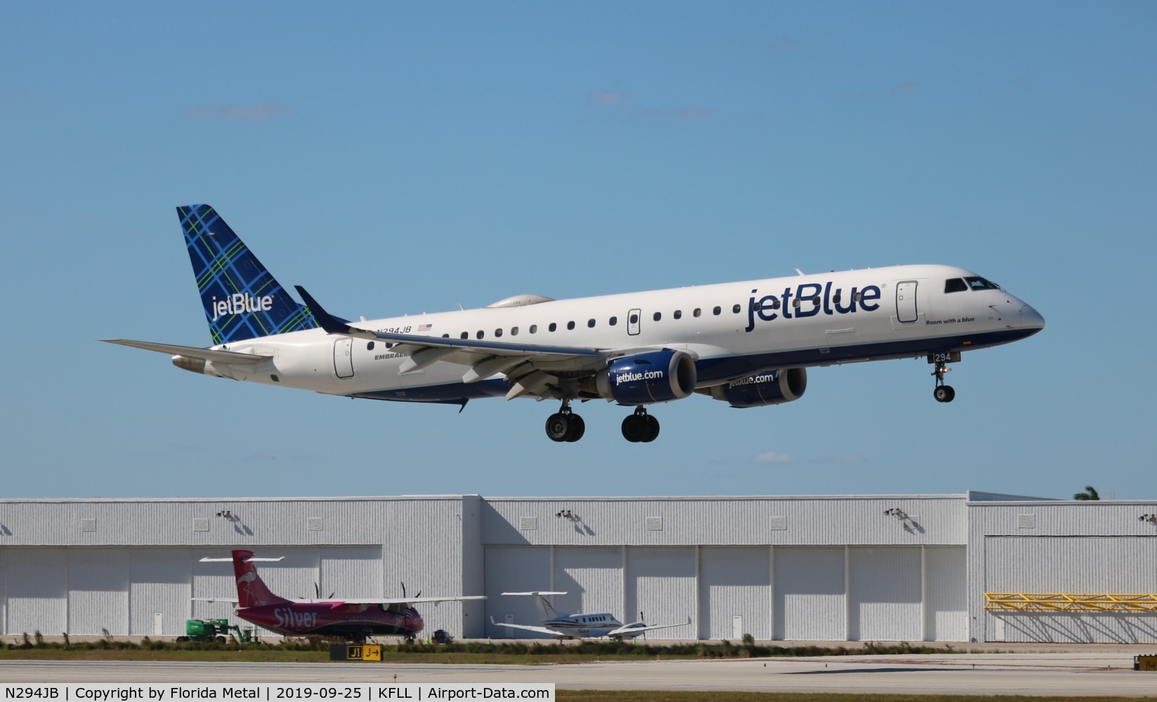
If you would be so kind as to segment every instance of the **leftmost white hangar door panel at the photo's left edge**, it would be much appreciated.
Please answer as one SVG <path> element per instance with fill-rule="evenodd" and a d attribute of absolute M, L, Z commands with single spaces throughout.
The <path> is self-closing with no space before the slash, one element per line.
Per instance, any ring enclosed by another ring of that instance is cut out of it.
<path fill-rule="evenodd" d="M 8 552 L 8 631 L 68 630 L 68 554 L 64 548 Z"/>

